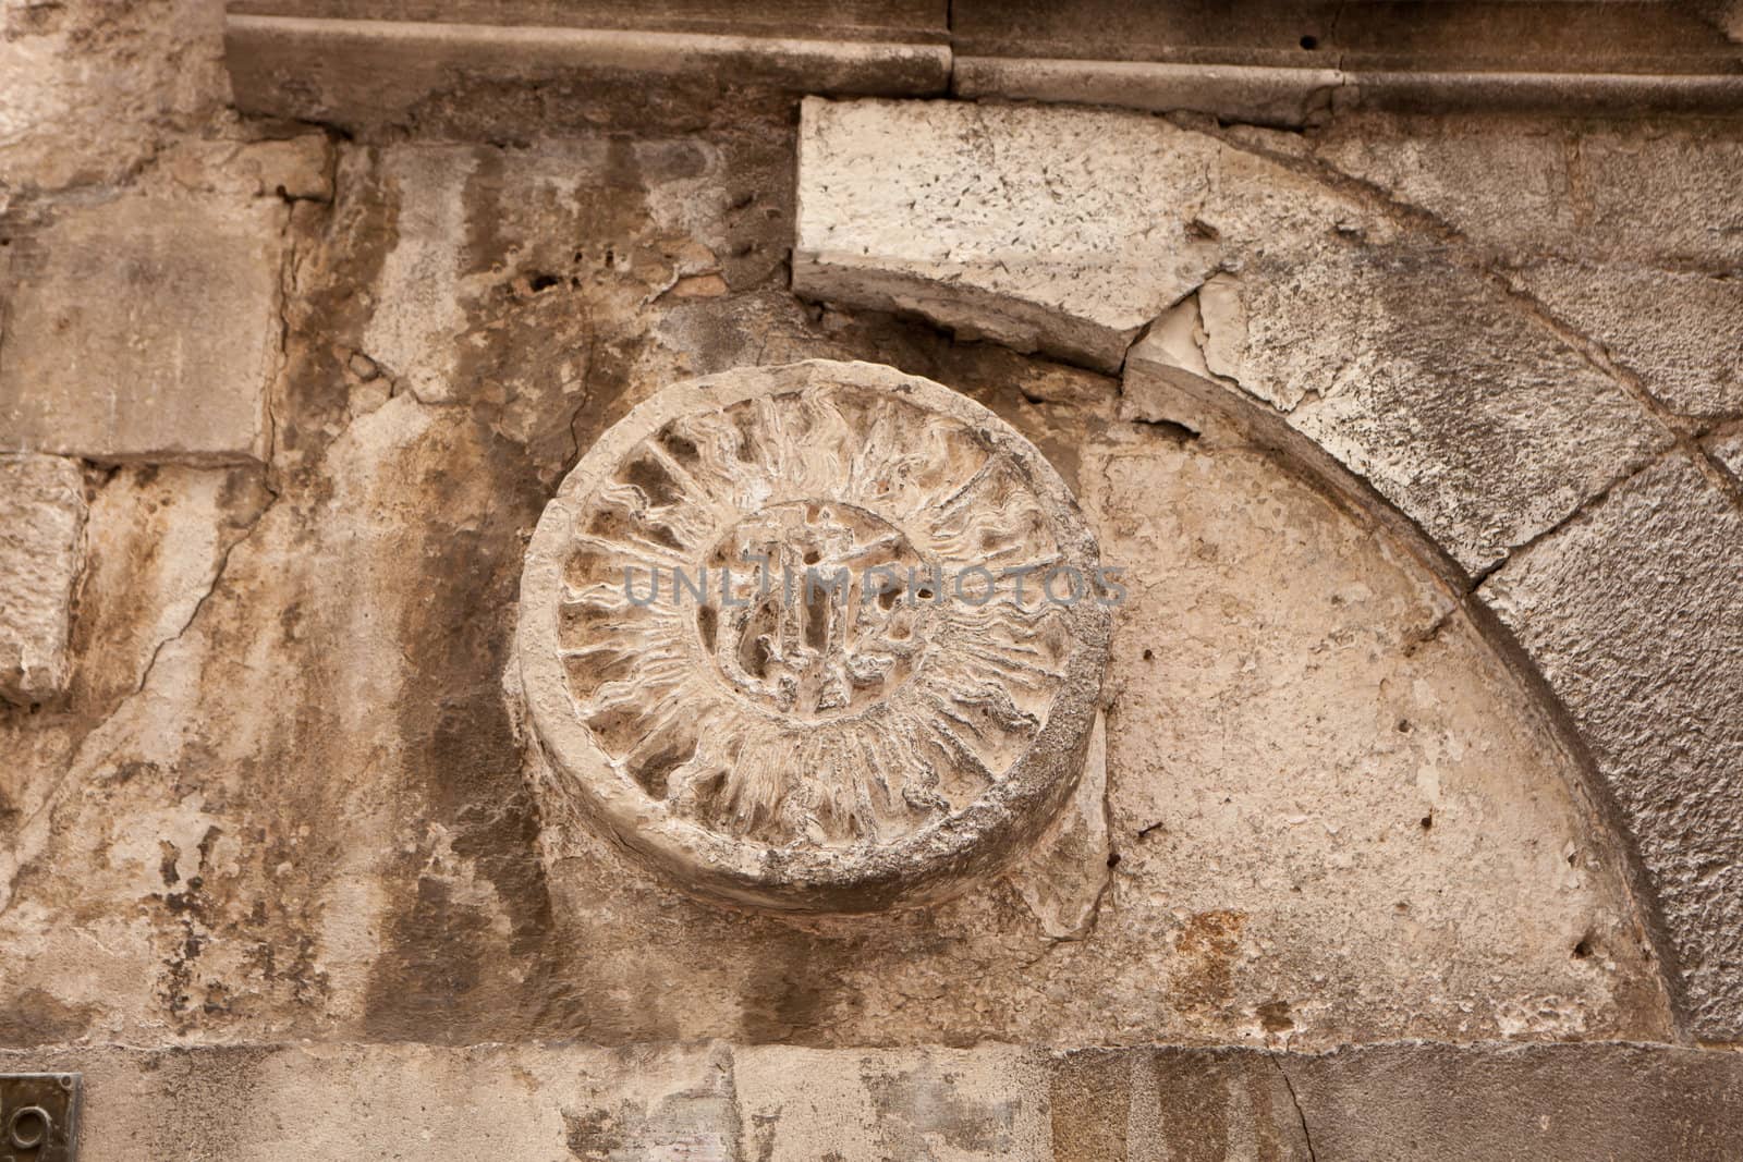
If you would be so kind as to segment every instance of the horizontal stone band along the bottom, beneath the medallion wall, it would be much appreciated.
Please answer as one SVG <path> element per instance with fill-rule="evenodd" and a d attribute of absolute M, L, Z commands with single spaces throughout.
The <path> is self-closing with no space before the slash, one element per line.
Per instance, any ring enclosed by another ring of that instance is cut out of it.
<path fill-rule="evenodd" d="M 1042 1051 L 300 1044 L 0 1051 L 92 1159 L 1734 1157 L 1743 1052 L 1621 1042 Z"/>

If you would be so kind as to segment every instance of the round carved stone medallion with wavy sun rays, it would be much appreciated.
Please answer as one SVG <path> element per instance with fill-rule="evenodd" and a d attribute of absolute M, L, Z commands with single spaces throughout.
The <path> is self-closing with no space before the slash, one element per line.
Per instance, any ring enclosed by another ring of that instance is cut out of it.
<path fill-rule="evenodd" d="M 1117 596 L 1065 483 L 957 392 L 823 361 L 669 387 L 526 554 L 549 814 L 730 901 L 948 895 L 1070 794 Z"/>

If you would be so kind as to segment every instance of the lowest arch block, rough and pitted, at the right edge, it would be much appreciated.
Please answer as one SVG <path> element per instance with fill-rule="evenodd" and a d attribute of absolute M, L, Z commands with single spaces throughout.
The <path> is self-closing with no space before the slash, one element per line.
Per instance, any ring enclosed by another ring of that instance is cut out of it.
<path fill-rule="evenodd" d="M 1736 498 L 1673 456 L 1482 589 L 1591 746 L 1713 1040 L 1743 1035 L 1740 577 Z"/>

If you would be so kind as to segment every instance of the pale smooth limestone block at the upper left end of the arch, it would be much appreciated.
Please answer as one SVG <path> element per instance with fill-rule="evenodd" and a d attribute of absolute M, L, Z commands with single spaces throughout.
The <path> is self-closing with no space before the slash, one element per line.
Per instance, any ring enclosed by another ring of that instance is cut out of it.
<path fill-rule="evenodd" d="M 1116 369 L 1217 265 L 1210 150 L 1128 113 L 809 99 L 793 287 Z"/>

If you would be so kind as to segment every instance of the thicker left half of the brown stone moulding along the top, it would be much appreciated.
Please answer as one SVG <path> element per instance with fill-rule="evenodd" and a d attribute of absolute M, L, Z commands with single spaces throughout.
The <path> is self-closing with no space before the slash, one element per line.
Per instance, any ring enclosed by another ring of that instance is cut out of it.
<path fill-rule="evenodd" d="M 697 19 L 692 9 L 678 28 L 661 28 L 657 19 L 652 28 L 624 28 L 631 9 L 622 7 L 591 28 L 575 26 L 587 23 L 586 7 L 540 5 L 530 24 L 504 19 L 502 9 L 474 12 L 476 23 L 427 5 L 413 19 L 284 14 L 282 7 L 235 12 L 225 28 L 225 61 L 237 108 L 363 132 L 408 124 L 458 129 L 457 136 L 483 127 L 516 132 L 528 117 L 645 131 L 668 118 L 687 125 L 730 120 L 732 106 L 758 99 L 779 108 L 790 94 L 924 96 L 945 92 L 950 82 L 941 28 L 889 28 L 889 40 L 866 38 L 863 5 L 845 14 L 826 5 L 781 12 L 774 21 L 746 21 L 743 7 L 725 19 Z M 837 19 L 856 28 L 819 35 Z M 929 23 L 943 24 L 941 14 Z M 492 77 L 490 99 L 455 101 L 455 91 L 478 77 Z M 565 101 L 547 103 L 551 92 L 563 92 Z"/>

